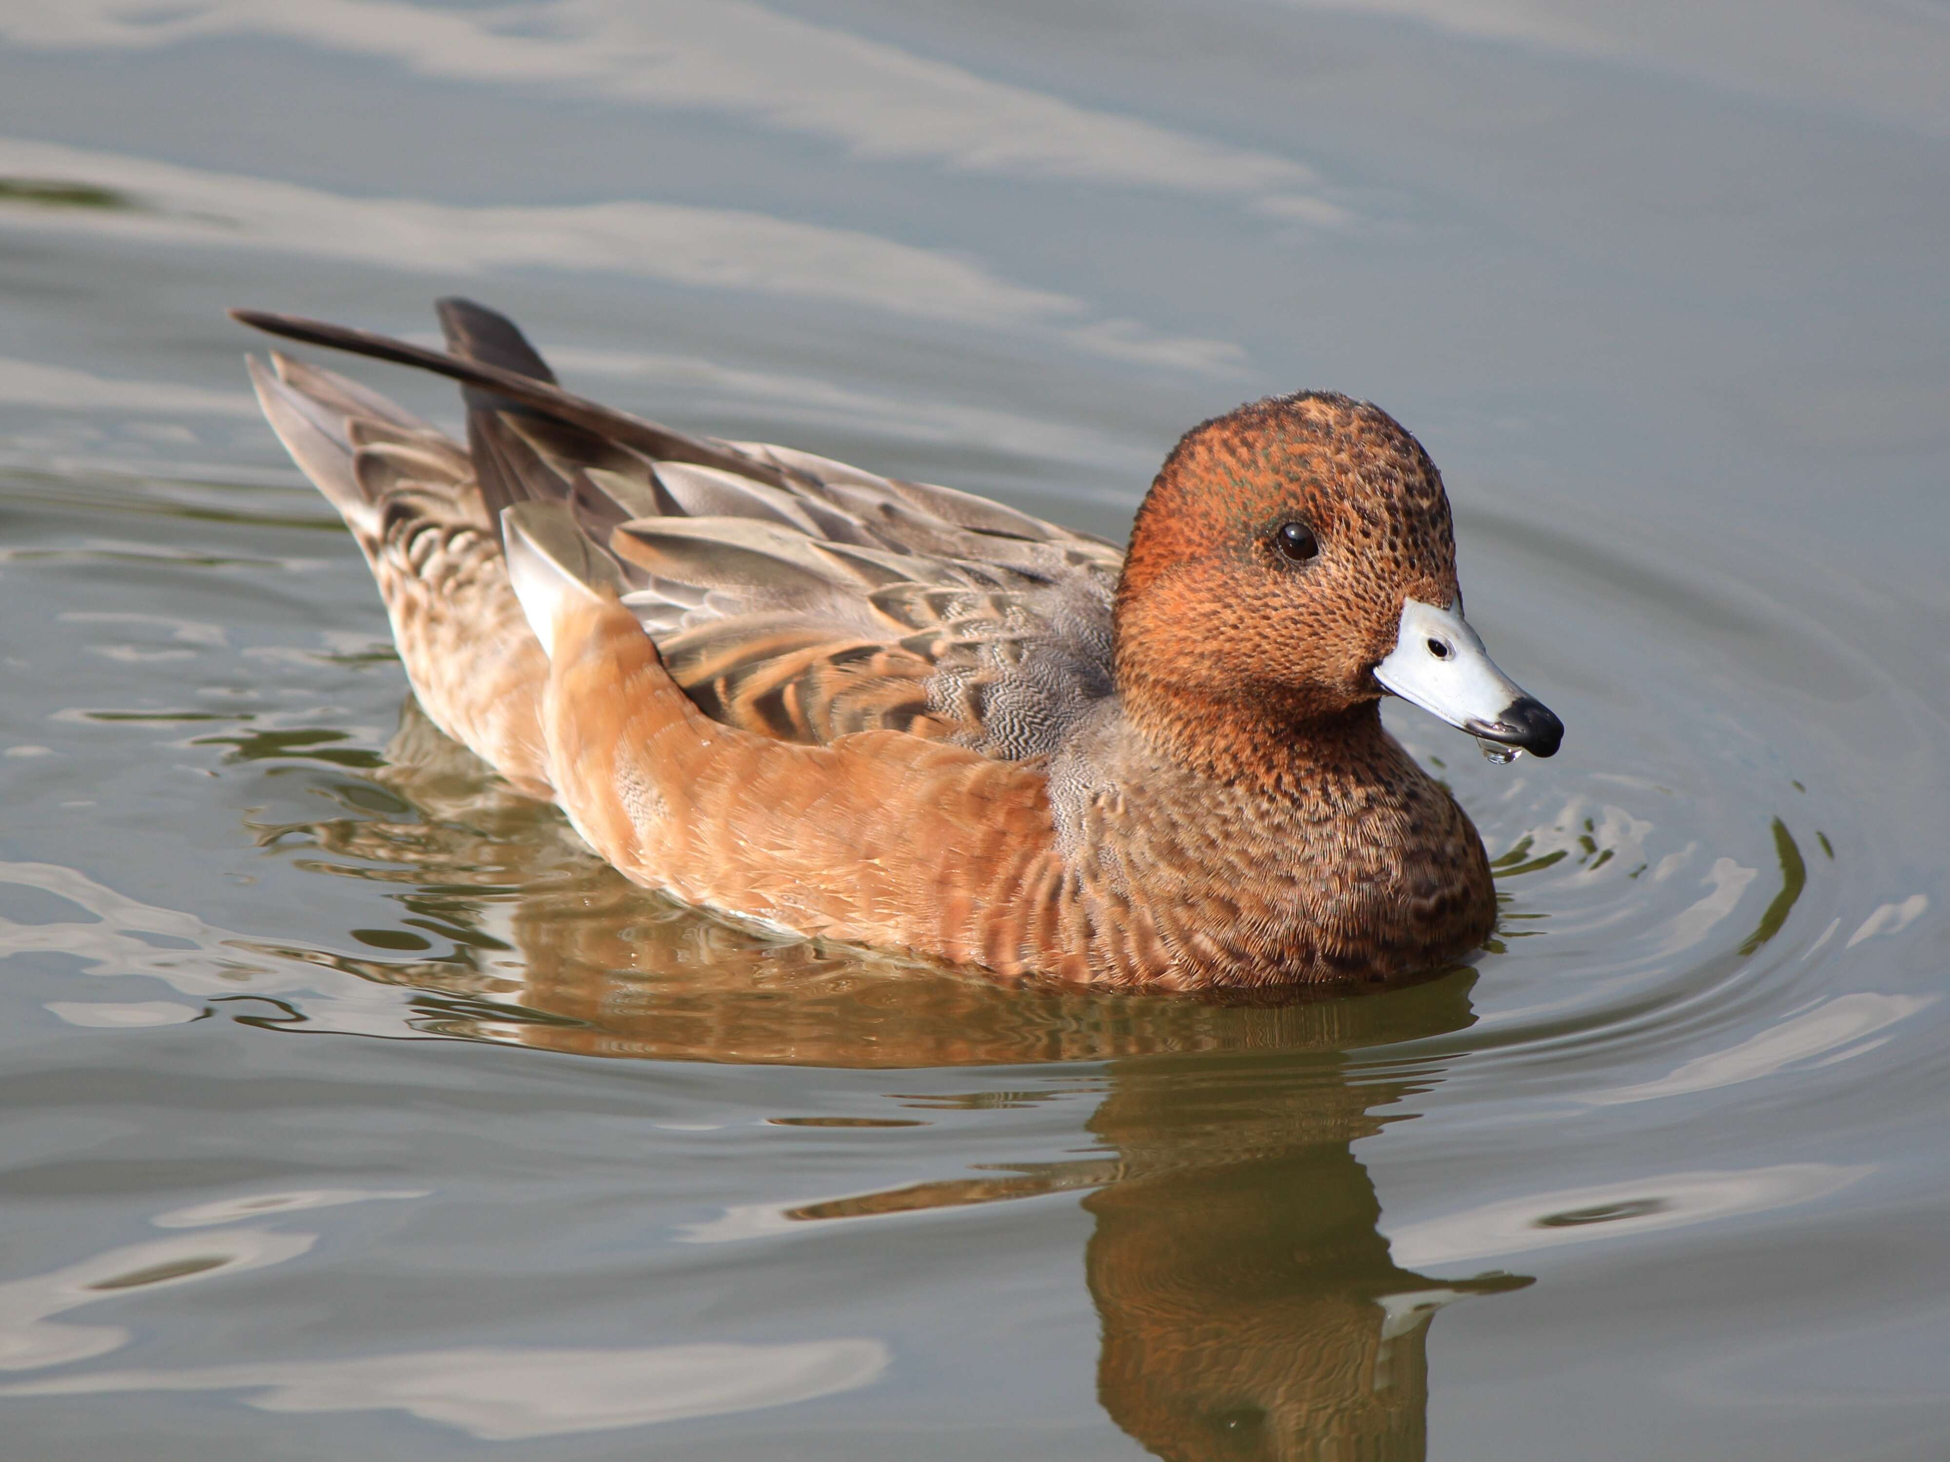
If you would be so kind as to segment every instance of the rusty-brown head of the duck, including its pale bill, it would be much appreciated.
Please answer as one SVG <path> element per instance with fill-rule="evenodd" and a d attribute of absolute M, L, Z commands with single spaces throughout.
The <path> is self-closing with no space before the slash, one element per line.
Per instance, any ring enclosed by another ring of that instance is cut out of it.
<path fill-rule="evenodd" d="M 1386 413 L 1281 396 L 1164 460 L 1117 585 L 1117 688 L 1174 741 L 1203 719 L 1281 735 L 1396 694 L 1550 756 L 1558 721 L 1462 618 L 1441 474 Z"/>

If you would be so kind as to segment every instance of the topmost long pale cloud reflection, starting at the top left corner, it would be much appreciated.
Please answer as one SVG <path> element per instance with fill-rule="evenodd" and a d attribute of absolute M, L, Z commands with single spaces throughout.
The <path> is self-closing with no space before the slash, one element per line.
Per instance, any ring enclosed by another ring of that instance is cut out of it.
<path fill-rule="evenodd" d="M 1293 158 L 1080 107 L 745 0 L 665 4 L 653 16 L 628 0 L 484 14 L 396 0 L 207 0 L 166 16 L 146 0 L 70 0 L 0 18 L 0 35 L 49 49 L 289 37 L 425 76 L 733 113 L 866 158 L 1238 197 L 1260 212 L 1312 224 L 1346 218 L 1312 193 L 1318 179 Z"/>

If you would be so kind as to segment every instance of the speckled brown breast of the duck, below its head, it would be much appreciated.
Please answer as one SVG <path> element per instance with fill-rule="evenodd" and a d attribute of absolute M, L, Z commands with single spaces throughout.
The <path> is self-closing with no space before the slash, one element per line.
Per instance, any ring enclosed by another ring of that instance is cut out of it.
<path fill-rule="evenodd" d="M 1059 842 L 1092 850 L 1080 895 L 1133 930 L 1117 979 L 1375 979 L 1490 934 L 1482 840 L 1375 702 L 1295 719 L 1133 690 L 1090 764 L 1051 774 Z"/>

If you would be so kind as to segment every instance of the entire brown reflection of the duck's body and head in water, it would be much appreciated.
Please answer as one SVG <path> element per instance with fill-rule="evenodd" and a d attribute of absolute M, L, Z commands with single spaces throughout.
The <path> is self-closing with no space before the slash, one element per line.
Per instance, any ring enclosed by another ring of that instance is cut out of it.
<path fill-rule="evenodd" d="M 411 706 L 374 780 L 423 817 L 345 817 L 269 828 L 267 840 L 302 832 L 333 856 L 332 871 L 417 885 L 406 895 L 425 916 L 415 922 L 458 936 L 454 955 L 326 959 L 417 986 L 429 1031 L 661 1060 L 1110 1062 L 1088 1123 L 1102 1156 L 786 1216 L 1086 1191 L 1098 1400 L 1156 1456 L 1422 1458 L 1429 1318 L 1464 1294 L 1531 1283 L 1396 1267 L 1351 1150 L 1431 1074 L 1365 1080 L 1349 1053 L 1472 1023 L 1468 971 L 1285 1006 L 1002 988 L 659 904 L 577 852 L 560 815 L 501 791 Z"/>

